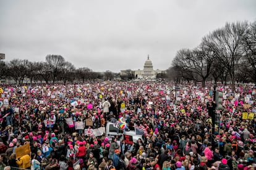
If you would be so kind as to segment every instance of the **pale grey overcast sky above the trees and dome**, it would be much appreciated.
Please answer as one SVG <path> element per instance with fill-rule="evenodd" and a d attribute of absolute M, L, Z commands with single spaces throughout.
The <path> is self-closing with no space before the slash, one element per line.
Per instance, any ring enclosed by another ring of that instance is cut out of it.
<path fill-rule="evenodd" d="M 226 22 L 256 20 L 255 0 L 0 0 L 0 53 L 6 61 L 62 55 L 93 71 L 171 66 Z"/>

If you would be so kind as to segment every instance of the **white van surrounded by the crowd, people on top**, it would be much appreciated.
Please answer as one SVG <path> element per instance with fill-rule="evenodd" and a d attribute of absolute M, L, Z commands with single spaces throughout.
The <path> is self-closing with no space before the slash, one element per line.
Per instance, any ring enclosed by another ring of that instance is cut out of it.
<path fill-rule="evenodd" d="M 144 138 L 142 135 L 137 135 L 135 131 L 124 131 L 122 132 L 119 129 L 119 133 L 117 134 L 117 127 L 116 124 L 108 122 L 106 124 L 106 137 L 108 137 L 109 140 L 112 139 L 112 137 L 117 136 L 118 140 L 124 139 L 123 135 L 129 135 L 132 136 L 132 140 L 136 143 L 138 139 L 142 139 L 142 142 L 144 142 Z"/>

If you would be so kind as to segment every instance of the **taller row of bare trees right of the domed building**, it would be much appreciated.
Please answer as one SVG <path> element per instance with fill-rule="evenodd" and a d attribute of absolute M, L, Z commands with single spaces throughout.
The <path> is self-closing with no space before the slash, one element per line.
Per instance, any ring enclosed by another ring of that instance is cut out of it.
<path fill-rule="evenodd" d="M 181 49 L 168 74 L 190 81 L 227 80 L 256 84 L 256 21 L 226 23 L 202 38 L 194 49 Z"/>

